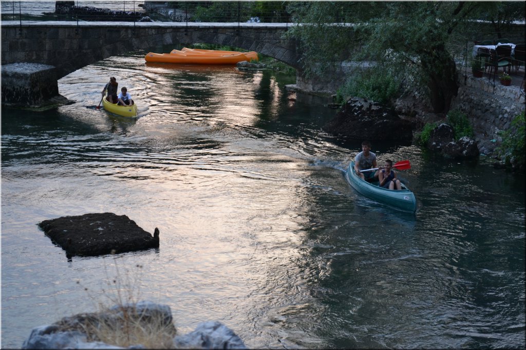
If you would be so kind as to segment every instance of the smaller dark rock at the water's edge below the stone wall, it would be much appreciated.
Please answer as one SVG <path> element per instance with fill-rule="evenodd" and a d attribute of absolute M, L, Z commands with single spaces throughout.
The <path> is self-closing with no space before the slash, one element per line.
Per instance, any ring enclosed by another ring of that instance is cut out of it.
<path fill-rule="evenodd" d="M 427 143 L 427 147 L 432 152 L 442 153 L 442 155 L 455 159 L 471 159 L 479 156 L 477 143 L 469 137 L 454 140 L 454 130 L 451 125 L 442 123 L 434 128 Z"/>

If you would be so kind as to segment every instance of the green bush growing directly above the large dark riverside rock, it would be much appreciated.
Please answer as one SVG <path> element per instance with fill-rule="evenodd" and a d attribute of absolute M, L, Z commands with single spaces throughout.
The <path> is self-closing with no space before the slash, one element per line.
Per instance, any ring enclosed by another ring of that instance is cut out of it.
<path fill-rule="evenodd" d="M 356 96 L 382 104 L 398 97 L 401 80 L 385 68 L 369 68 L 360 71 L 336 93 L 336 100 L 345 103 L 348 97 Z"/>

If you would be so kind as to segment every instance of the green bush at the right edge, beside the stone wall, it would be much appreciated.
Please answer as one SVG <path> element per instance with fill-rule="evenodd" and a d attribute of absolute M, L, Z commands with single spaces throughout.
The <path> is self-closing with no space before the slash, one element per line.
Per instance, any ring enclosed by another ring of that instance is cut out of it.
<path fill-rule="evenodd" d="M 509 130 L 501 131 L 499 134 L 502 137 L 501 144 L 496 151 L 499 158 L 506 164 L 515 163 L 524 167 L 524 138 L 526 137 L 526 121 L 524 119 L 524 111 L 518 114 L 511 121 L 511 128 Z"/>

